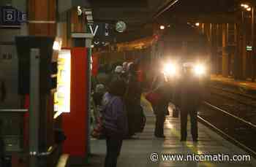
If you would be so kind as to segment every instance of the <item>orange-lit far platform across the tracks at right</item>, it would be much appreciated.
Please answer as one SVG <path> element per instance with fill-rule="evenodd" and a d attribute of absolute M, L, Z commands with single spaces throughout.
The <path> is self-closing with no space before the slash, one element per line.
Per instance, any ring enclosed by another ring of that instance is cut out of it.
<path fill-rule="evenodd" d="M 231 77 L 222 77 L 222 75 L 211 75 L 211 82 L 241 88 L 246 91 L 256 91 L 256 82 L 235 80 Z"/>

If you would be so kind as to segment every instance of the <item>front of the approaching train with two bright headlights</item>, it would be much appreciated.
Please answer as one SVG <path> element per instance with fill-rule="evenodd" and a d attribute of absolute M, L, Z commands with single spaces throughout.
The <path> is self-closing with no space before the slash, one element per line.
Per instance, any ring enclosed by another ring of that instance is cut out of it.
<path fill-rule="evenodd" d="M 160 63 L 165 75 L 181 76 L 191 66 L 198 77 L 211 73 L 210 47 L 207 37 L 195 26 L 173 24 L 163 31 L 152 46 L 152 61 Z"/>

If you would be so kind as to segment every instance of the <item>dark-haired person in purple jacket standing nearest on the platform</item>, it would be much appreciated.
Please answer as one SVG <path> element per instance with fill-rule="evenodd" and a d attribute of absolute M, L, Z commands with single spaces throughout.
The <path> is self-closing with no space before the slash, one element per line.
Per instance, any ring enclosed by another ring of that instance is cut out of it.
<path fill-rule="evenodd" d="M 128 133 L 127 112 L 123 101 L 126 84 L 124 80 L 115 79 L 110 82 L 108 89 L 103 99 L 105 105 L 102 109 L 102 122 L 107 144 L 105 167 L 116 167 L 122 141 Z"/>

